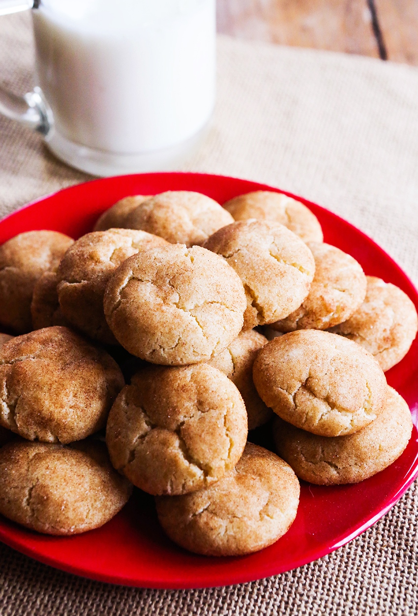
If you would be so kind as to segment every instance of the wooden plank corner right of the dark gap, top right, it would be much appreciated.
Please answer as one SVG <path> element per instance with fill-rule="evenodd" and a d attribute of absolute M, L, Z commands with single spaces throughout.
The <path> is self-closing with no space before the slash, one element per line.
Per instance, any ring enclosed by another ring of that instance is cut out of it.
<path fill-rule="evenodd" d="M 418 0 L 374 0 L 388 60 L 418 66 Z"/>

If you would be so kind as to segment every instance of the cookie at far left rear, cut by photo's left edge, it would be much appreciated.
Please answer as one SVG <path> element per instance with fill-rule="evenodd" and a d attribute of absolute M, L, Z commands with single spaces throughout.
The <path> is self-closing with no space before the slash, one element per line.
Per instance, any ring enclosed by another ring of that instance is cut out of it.
<path fill-rule="evenodd" d="M 20 233 L 0 246 L 0 323 L 22 334 L 31 330 L 31 301 L 36 280 L 58 267 L 73 243 L 57 231 Z"/>

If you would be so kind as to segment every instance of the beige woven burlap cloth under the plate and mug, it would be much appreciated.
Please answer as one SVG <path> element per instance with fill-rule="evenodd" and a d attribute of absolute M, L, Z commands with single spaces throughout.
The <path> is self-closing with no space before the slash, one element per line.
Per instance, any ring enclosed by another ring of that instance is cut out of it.
<path fill-rule="evenodd" d="M 28 15 L 0 18 L 0 75 L 33 83 Z M 418 71 L 329 52 L 219 39 L 212 128 L 183 170 L 257 180 L 331 209 L 418 283 Z M 89 179 L 0 119 L 0 215 Z M 0 544 L 0 615 L 396 616 L 418 613 L 418 485 L 320 561 L 265 580 L 172 591 L 102 584 Z"/>

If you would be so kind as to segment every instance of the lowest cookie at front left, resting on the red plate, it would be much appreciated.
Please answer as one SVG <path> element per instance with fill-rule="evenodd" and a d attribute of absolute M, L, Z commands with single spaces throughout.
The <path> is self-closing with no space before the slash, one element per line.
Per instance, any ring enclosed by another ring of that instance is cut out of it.
<path fill-rule="evenodd" d="M 0 513 L 48 535 L 73 535 L 108 522 L 131 484 L 112 468 L 103 443 L 83 450 L 18 442 L 0 450 Z"/>

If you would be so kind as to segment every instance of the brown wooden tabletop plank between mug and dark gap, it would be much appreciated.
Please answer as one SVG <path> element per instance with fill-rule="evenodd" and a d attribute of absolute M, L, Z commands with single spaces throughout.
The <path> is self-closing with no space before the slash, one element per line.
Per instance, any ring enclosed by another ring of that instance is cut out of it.
<path fill-rule="evenodd" d="M 367 0 L 217 0 L 217 12 L 238 38 L 379 57 Z"/>

